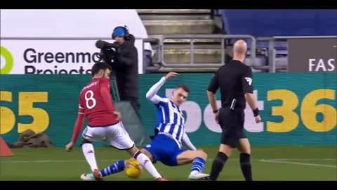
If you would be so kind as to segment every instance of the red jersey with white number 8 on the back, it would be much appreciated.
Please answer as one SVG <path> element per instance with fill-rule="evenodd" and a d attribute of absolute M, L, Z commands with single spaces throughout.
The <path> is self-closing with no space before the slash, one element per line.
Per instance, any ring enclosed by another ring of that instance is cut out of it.
<path fill-rule="evenodd" d="M 107 106 L 100 91 L 103 87 L 110 90 L 110 86 L 107 78 L 93 78 L 79 94 L 79 114 L 86 115 L 88 126 L 102 127 L 119 122 L 112 114 L 116 110 L 114 105 Z"/>

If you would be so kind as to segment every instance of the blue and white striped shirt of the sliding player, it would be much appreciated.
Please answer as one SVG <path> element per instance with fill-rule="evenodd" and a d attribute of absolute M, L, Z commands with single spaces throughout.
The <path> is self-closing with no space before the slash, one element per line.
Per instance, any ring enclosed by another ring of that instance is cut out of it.
<path fill-rule="evenodd" d="M 164 84 L 165 78 L 162 77 L 159 82 L 154 84 L 147 92 L 146 98 L 152 101 L 157 106 L 157 120 L 156 128 L 159 134 L 165 134 L 182 147 L 182 139 L 185 134 L 184 123 L 185 118 L 183 112 L 175 103 L 166 97 L 157 95 L 157 91 Z"/>

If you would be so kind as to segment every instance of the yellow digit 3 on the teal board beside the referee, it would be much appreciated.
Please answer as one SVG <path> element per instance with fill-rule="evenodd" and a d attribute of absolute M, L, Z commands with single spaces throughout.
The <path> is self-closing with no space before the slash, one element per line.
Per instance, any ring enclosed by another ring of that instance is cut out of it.
<path fill-rule="evenodd" d="M 280 115 L 282 122 L 267 121 L 268 132 L 290 132 L 298 125 L 298 114 L 293 110 L 298 106 L 298 97 L 293 91 L 275 89 L 267 92 L 267 101 L 282 100 L 281 106 L 272 106 L 272 115 Z"/>

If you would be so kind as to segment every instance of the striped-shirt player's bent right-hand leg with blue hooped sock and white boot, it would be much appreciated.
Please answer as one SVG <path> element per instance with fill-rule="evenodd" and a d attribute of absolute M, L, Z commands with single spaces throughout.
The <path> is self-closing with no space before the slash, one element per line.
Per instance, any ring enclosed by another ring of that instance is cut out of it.
<path fill-rule="evenodd" d="M 181 151 L 176 156 L 178 165 L 185 165 L 192 163 L 191 172 L 188 179 L 199 180 L 204 177 L 209 177 L 208 174 L 201 173 L 204 170 L 207 160 L 207 153 L 202 150 L 197 151 Z"/>

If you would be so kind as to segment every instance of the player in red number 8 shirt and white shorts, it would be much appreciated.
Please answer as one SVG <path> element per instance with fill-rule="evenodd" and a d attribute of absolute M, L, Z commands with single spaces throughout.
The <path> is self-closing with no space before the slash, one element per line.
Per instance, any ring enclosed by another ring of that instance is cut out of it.
<path fill-rule="evenodd" d="M 65 149 L 72 150 L 86 117 L 88 126 L 82 133 L 82 151 L 96 180 L 103 180 L 103 177 L 98 170 L 91 142 L 107 139 L 111 146 L 128 151 L 140 165 L 150 172 L 154 179 L 165 181 L 166 179 L 161 177 L 154 165 L 149 162 L 150 159 L 135 146 L 121 122 L 121 114 L 114 108 L 110 96 L 110 70 L 110 65 L 107 63 L 99 62 L 93 65 L 91 69 L 93 78 L 79 94 L 79 113 L 74 125 L 72 140 L 65 146 Z"/>

